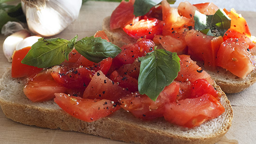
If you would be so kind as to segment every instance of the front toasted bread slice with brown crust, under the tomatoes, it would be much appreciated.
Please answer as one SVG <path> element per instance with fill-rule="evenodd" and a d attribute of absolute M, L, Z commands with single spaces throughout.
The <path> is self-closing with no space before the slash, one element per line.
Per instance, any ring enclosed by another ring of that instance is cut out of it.
<path fill-rule="evenodd" d="M 166 122 L 163 118 L 144 121 L 125 110 L 94 122 L 78 120 L 58 107 L 53 100 L 33 103 L 24 95 L 26 79 L 12 78 L 11 69 L 0 80 L 0 106 L 9 119 L 43 128 L 76 131 L 128 143 L 141 144 L 214 144 L 228 131 L 233 118 L 230 102 L 221 92 L 225 112 L 219 117 L 188 129 Z"/>

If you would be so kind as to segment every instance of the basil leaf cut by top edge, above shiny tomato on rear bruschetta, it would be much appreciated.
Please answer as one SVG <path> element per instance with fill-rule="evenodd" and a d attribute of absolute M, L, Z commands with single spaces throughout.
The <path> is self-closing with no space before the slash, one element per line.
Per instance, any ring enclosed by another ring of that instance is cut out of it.
<path fill-rule="evenodd" d="M 167 0 L 170 4 L 174 4 L 176 0 Z M 133 14 L 137 16 L 145 15 L 149 10 L 160 4 L 161 0 L 135 0 Z"/>

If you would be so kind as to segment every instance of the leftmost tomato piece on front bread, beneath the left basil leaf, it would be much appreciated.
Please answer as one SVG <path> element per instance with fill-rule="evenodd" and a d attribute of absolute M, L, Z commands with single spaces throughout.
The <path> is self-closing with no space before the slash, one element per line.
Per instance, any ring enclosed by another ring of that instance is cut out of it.
<path fill-rule="evenodd" d="M 26 47 L 14 51 L 12 62 L 12 77 L 31 76 L 43 70 L 42 68 L 37 68 L 34 66 L 21 63 L 21 60 L 25 58 L 30 49 L 31 47 Z"/>

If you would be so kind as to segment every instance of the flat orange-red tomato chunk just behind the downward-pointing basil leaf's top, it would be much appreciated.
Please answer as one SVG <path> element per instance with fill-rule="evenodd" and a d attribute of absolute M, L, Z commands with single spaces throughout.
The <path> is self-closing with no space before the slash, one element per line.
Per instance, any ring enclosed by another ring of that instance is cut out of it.
<path fill-rule="evenodd" d="M 160 43 L 165 50 L 177 52 L 178 55 L 186 53 L 186 43 L 172 36 L 157 35 L 153 40 L 155 43 Z"/>

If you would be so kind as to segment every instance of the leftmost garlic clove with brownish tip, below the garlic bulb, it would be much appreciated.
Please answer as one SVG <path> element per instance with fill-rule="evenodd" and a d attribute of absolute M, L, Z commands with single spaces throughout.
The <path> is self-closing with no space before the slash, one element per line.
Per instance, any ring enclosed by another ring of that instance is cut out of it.
<path fill-rule="evenodd" d="M 16 49 L 16 45 L 24 38 L 30 36 L 27 30 L 18 31 L 8 36 L 3 42 L 3 54 L 9 62 L 12 62 L 12 55 Z"/>

